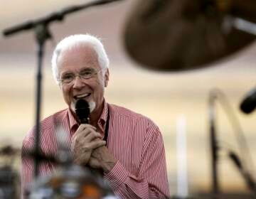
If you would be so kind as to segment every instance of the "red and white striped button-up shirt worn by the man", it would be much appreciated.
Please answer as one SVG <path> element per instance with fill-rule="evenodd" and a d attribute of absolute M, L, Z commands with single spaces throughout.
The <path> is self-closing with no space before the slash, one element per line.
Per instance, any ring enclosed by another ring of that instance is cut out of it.
<path fill-rule="evenodd" d="M 107 112 L 110 111 L 107 148 L 117 158 L 112 171 L 104 178 L 119 198 L 168 198 L 169 185 L 166 172 L 164 143 L 159 128 L 147 117 L 129 109 L 104 102 L 98 126 L 104 136 Z M 78 129 L 78 122 L 70 109 L 57 112 L 41 122 L 41 151 L 58 156 L 56 126 L 62 125 L 71 137 Z M 23 140 L 23 154 L 35 143 L 35 129 Z M 33 182 L 33 161 L 22 155 L 21 186 L 29 188 Z M 55 166 L 41 162 L 39 175 L 53 173 Z"/>

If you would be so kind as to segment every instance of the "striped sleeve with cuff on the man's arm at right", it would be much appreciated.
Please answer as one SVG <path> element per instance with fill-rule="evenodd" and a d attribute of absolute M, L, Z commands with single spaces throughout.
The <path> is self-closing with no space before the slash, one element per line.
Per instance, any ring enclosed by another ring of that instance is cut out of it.
<path fill-rule="evenodd" d="M 157 127 L 149 128 L 143 148 L 138 176 L 117 161 L 105 178 L 120 198 L 169 198 L 164 142 Z"/>

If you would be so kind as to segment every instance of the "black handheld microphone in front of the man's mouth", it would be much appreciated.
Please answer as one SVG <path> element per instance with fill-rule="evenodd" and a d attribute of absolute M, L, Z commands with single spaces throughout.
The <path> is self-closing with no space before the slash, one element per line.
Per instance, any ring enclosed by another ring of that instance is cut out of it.
<path fill-rule="evenodd" d="M 75 104 L 75 114 L 81 124 L 89 124 L 90 106 L 84 99 L 78 99 Z"/>

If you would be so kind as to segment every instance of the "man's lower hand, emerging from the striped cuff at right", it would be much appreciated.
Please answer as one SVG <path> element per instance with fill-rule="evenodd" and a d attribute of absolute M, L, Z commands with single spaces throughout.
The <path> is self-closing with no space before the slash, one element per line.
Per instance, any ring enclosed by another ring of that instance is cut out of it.
<path fill-rule="evenodd" d="M 114 158 L 106 146 L 94 149 L 88 162 L 90 167 L 101 168 L 106 173 L 110 172 L 116 163 L 116 158 Z"/>

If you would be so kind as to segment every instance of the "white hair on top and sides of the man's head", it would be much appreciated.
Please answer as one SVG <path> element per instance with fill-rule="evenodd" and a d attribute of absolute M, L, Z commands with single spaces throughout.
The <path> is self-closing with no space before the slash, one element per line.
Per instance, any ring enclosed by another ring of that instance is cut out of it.
<path fill-rule="evenodd" d="M 60 41 L 58 45 L 56 45 L 55 50 L 53 51 L 51 65 L 53 70 L 53 77 L 57 83 L 59 83 L 59 71 L 57 62 L 60 54 L 63 53 L 65 50 L 70 50 L 72 48 L 84 45 L 89 46 L 93 50 L 95 50 L 97 54 L 97 60 L 102 69 L 109 68 L 110 60 L 107 57 L 107 53 L 105 52 L 105 48 L 100 41 L 100 38 L 91 36 L 90 34 L 68 36 Z"/>

